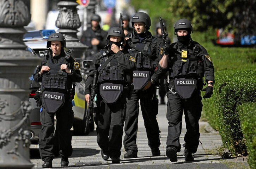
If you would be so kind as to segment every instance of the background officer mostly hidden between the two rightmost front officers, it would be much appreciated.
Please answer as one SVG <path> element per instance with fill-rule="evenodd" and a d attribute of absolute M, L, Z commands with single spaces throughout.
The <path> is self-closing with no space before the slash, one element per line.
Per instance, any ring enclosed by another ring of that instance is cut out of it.
<path fill-rule="evenodd" d="M 164 22 L 163 22 L 163 25 L 164 25 L 164 31 L 166 31 L 166 24 Z M 157 39 L 159 39 L 160 41 L 163 41 L 160 22 L 157 22 L 157 24 L 155 26 L 155 30 L 156 30 L 156 34 L 154 36 Z M 171 43 L 171 39 L 169 37 L 166 37 L 166 43 L 167 44 Z M 165 87 L 164 87 L 164 79 L 166 79 L 167 76 L 168 76 L 168 72 L 165 74 L 165 76 L 161 77 L 161 79 L 159 80 L 159 83 L 160 83 L 160 87 L 159 87 L 160 104 L 165 104 L 164 98 L 165 98 L 165 95 L 166 95 L 166 91 L 165 91 Z"/>

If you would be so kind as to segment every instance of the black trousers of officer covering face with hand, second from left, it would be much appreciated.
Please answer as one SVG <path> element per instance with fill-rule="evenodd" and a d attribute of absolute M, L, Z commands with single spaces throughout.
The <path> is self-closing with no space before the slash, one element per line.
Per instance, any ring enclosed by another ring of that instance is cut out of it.
<path fill-rule="evenodd" d="M 109 150 L 109 157 L 120 157 L 123 123 L 126 114 L 126 97 L 122 95 L 115 103 L 108 104 L 97 95 L 95 123 L 97 143 L 101 149 Z"/>

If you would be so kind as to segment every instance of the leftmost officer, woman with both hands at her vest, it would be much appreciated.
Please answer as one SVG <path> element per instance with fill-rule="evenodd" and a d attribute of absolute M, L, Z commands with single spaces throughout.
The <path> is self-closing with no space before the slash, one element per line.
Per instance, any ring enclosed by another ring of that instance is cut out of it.
<path fill-rule="evenodd" d="M 72 154 L 70 129 L 73 125 L 72 82 L 81 82 L 79 64 L 74 62 L 70 53 L 65 54 L 66 40 L 60 33 L 53 33 L 47 40 L 47 48 L 42 57 L 41 66 L 34 74 L 36 82 L 42 82 L 42 105 L 39 133 L 39 152 L 44 161 L 43 168 L 52 168 L 54 115 L 56 115 L 56 131 L 61 155 L 61 167 L 68 166 L 68 157 Z M 38 101 L 38 100 L 37 100 Z"/>

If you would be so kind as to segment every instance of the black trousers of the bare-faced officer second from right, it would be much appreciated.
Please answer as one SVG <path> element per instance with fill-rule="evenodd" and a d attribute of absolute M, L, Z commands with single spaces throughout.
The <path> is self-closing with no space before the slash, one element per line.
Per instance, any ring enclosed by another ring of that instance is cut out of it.
<path fill-rule="evenodd" d="M 124 122 L 126 135 L 123 140 L 125 151 L 129 149 L 138 151 L 136 139 L 138 131 L 139 100 L 147 132 L 148 145 L 151 149 L 158 148 L 160 145 L 160 131 L 157 122 L 158 99 L 156 97 L 156 88 L 151 86 L 145 91 L 134 90 L 131 99 L 127 99 L 126 119 Z"/>

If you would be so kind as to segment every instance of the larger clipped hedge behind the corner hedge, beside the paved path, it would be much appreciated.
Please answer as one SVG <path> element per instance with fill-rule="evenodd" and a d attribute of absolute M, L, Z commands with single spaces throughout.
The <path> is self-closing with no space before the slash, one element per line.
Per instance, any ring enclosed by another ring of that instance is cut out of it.
<path fill-rule="evenodd" d="M 209 123 L 219 129 L 223 145 L 233 156 L 246 155 L 246 146 L 240 126 L 237 106 L 255 102 L 256 71 L 234 71 L 215 78 L 214 95 L 203 99 L 204 112 Z"/>

